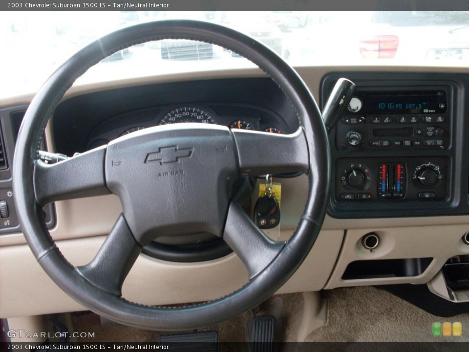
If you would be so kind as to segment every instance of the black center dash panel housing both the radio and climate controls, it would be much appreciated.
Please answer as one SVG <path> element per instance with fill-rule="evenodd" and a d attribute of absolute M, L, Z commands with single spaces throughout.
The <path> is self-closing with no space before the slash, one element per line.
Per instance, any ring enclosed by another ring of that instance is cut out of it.
<path fill-rule="evenodd" d="M 455 77 L 402 72 L 324 76 L 323 108 L 340 78 L 356 87 L 329 133 L 330 216 L 468 214 L 469 169 L 461 159 L 469 134 L 467 91 Z"/>

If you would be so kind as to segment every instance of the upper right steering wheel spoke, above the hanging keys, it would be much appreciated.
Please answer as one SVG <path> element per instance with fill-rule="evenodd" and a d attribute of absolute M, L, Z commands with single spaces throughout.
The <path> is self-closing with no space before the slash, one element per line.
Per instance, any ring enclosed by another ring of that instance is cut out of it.
<path fill-rule="evenodd" d="M 292 134 L 232 132 L 241 176 L 308 172 L 308 147 L 301 127 Z"/>

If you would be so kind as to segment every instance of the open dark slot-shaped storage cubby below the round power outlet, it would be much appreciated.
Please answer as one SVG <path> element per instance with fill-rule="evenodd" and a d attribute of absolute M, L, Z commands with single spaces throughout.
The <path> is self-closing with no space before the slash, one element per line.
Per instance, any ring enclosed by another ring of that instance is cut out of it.
<path fill-rule="evenodd" d="M 409 277 L 421 275 L 433 258 L 356 261 L 347 265 L 342 280 Z"/>

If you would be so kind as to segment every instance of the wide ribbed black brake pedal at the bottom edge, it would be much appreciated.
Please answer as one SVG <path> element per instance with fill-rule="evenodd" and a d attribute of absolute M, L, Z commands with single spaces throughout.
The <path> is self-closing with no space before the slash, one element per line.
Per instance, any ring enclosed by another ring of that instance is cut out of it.
<path fill-rule="evenodd" d="M 160 335 L 158 342 L 169 344 L 175 352 L 216 352 L 218 333 L 216 331 L 196 331 L 185 334 Z"/>

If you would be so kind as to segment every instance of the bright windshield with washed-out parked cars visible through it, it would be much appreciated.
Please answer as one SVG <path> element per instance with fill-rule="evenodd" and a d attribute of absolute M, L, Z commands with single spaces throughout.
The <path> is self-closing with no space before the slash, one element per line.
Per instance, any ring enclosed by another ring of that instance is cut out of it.
<path fill-rule="evenodd" d="M 168 19 L 232 27 L 294 66 L 469 66 L 468 11 L 7 11 L 0 13 L 0 98 L 37 91 L 68 57 L 113 30 Z M 77 84 L 246 66 L 212 44 L 164 40 L 120 50 Z"/>

